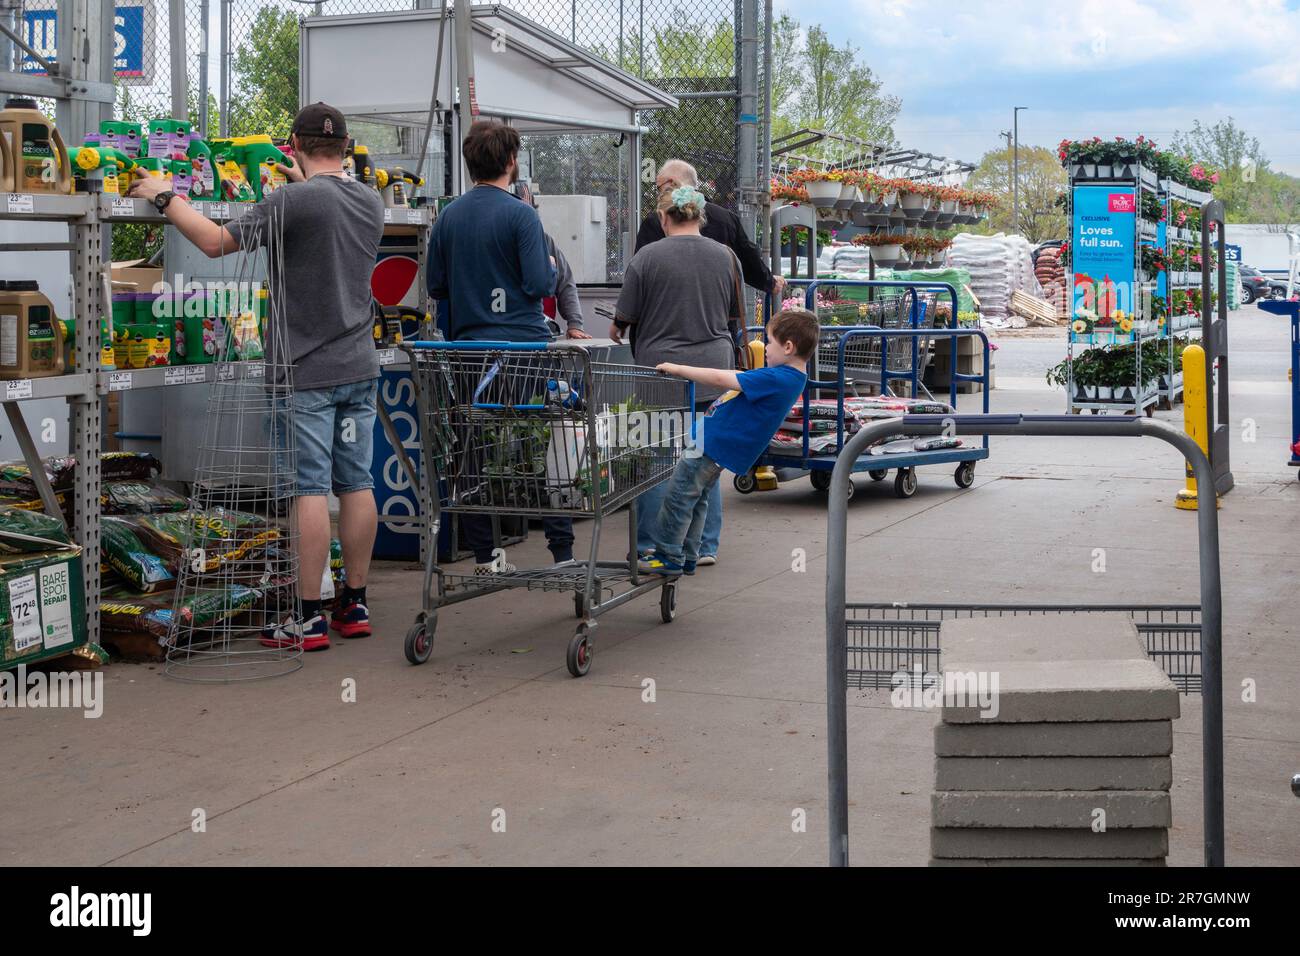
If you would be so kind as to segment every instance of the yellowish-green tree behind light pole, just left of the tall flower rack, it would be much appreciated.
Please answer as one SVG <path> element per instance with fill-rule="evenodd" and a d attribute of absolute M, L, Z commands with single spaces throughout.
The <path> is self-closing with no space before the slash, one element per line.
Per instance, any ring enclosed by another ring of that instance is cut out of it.
<path fill-rule="evenodd" d="M 976 229 L 984 234 L 1015 232 L 1011 198 L 1013 152 L 991 150 L 980 159 L 966 182 L 968 189 L 996 193 L 998 204 Z M 1056 152 L 1041 146 L 1022 146 L 1019 161 L 1020 222 L 1019 232 L 1030 242 L 1063 239 L 1069 234 L 1065 209 L 1056 198 L 1066 187 L 1066 172 Z"/>

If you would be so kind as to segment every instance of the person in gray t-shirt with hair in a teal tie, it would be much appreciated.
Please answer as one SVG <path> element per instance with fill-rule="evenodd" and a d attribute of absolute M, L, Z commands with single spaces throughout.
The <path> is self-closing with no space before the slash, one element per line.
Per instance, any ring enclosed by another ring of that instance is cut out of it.
<path fill-rule="evenodd" d="M 664 362 L 736 368 L 736 337 L 745 311 L 742 272 L 736 254 L 701 234 L 707 211 L 693 186 L 664 190 L 658 211 L 664 238 L 641 248 L 623 276 L 610 337 L 621 342 L 630 330 L 638 365 Z M 707 410 L 722 389 L 696 386 L 696 407 Z M 654 548 L 664 485 L 637 499 L 637 550 Z M 708 496 L 712 528 L 722 529 L 722 489 Z M 712 563 L 712 562 L 707 562 Z"/>

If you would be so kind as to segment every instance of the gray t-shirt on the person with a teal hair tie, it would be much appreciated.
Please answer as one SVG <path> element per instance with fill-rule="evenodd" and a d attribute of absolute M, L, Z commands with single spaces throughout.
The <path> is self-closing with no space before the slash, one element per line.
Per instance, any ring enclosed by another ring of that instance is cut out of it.
<path fill-rule="evenodd" d="M 702 235 L 668 235 L 632 256 L 623 276 L 616 321 L 636 326 L 638 365 L 673 362 L 734 368 L 734 333 L 745 308 L 736 254 Z M 696 385 L 696 401 L 720 389 Z"/>

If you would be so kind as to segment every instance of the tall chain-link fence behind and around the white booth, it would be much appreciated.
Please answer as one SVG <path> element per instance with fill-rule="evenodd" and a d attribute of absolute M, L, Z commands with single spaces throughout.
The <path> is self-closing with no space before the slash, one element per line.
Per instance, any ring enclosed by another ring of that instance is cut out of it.
<path fill-rule="evenodd" d="M 53 47 L 55 0 L 25 0 L 25 35 Z M 286 137 L 298 108 L 299 21 L 308 16 L 386 13 L 437 0 L 185 0 L 186 108 L 207 135 L 269 133 Z M 677 109 L 641 114 L 642 211 L 655 203 L 654 172 L 681 157 L 699 172 L 711 199 L 737 199 L 736 0 L 514 0 L 508 7 L 649 83 L 681 98 Z M 207 23 L 207 30 L 204 30 Z M 166 0 L 117 0 L 114 62 L 118 118 L 143 122 L 173 114 L 172 30 Z M 207 49 L 204 49 L 207 38 Z M 29 69 L 32 64 L 23 64 Z M 346 69 L 346 64 L 341 64 Z M 358 78 L 364 83 L 364 77 Z M 760 78 L 762 83 L 762 78 Z M 759 87 L 762 90 L 762 85 Z M 419 152 L 412 133 L 381 124 L 355 130 L 378 153 Z M 607 200 L 608 272 L 624 267 L 621 235 L 629 224 L 630 150 L 620 137 L 533 135 L 534 179 L 541 193 L 603 195 Z M 763 150 L 759 148 L 762 155 Z"/>

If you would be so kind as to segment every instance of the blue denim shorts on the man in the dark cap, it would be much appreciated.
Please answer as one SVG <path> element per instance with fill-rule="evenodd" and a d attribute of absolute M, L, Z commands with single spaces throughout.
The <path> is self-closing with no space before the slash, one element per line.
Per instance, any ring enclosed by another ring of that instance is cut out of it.
<path fill-rule="evenodd" d="M 347 494 L 374 488 L 374 398 L 378 380 L 294 392 L 295 494 Z"/>

